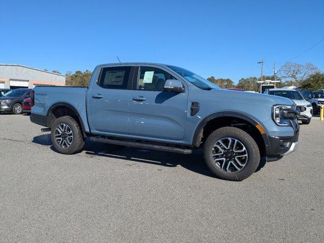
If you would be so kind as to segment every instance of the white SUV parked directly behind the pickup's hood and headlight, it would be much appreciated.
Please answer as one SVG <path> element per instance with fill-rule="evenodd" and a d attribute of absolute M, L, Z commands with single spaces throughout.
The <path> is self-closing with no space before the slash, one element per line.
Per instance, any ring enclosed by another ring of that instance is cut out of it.
<path fill-rule="evenodd" d="M 301 120 L 303 124 L 309 124 L 313 114 L 313 107 L 311 103 L 306 101 L 304 97 L 293 89 L 268 89 L 264 92 L 268 95 L 276 95 L 286 97 L 295 102 L 297 108 L 300 109 L 300 116 L 298 120 Z"/>

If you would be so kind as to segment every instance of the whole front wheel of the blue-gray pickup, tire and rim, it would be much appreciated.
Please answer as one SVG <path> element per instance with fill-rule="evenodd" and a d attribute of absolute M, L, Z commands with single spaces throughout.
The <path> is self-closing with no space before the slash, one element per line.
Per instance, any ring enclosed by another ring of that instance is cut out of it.
<path fill-rule="evenodd" d="M 258 168 L 260 151 L 248 133 L 224 127 L 212 132 L 205 141 L 204 159 L 218 178 L 242 181 Z"/>

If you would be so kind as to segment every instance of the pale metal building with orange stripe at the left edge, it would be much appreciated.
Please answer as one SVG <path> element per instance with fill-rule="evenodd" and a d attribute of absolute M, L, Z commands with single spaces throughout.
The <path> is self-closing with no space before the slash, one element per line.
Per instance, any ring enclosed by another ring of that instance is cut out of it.
<path fill-rule="evenodd" d="M 0 64 L 0 89 L 65 86 L 65 75 L 18 64 Z"/>

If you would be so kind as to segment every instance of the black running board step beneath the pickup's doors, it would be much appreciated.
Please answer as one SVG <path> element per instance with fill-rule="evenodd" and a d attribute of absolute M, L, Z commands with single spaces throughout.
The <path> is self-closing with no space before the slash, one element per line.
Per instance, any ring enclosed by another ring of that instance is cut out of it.
<path fill-rule="evenodd" d="M 192 152 L 191 149 L 186 149 L 186 148 L 175 148 L 175 147 L 161 146 L 161 145 L 148 144 L 148 143 L 113 140 L 107 138 L 90 137 L 90 141 L 97 142 L 97 143 L 124 145 L 124 146 L 136 147 L 136 148 L 146 148 L 146 149 L 173 152 L 173 153 L 182 153 L 182 154 L 189 154 Z"/>

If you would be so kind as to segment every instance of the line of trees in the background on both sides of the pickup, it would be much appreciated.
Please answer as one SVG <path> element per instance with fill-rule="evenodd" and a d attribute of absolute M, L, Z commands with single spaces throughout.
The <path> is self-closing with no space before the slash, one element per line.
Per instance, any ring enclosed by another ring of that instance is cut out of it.
<path fill-rule="evenodd" d="M 57 70 L 52 72 L 60 74 Z M 65 74 L 66 85 L 88 87 L 91 74 L 92 72 L 89 70 L 84 72 L 75 71 L 73 74 L 69 71 Z M 262 80 L 274 80 L 274 78 L 274 75 L 262 76 Z M 241 78 L 237 85 L 235 85 L 233 80 L 230 78 L 216 78 L 211 76 L 207 79 L 222 89 L 240 88 L 244 90 L 257 91 L 259 88 L 257 82 L 261 80 L 261 77 L 251 76 Z M 276 84 L 277 88 L 294 85 L 296 87 L 301 87 L 303 90 L 316 91 L 324 89 L 324 73 L 311 63 L 299 64 L 287 62 L 280 67 L 275 79 L 280 81 L 280 83 Z"/>

